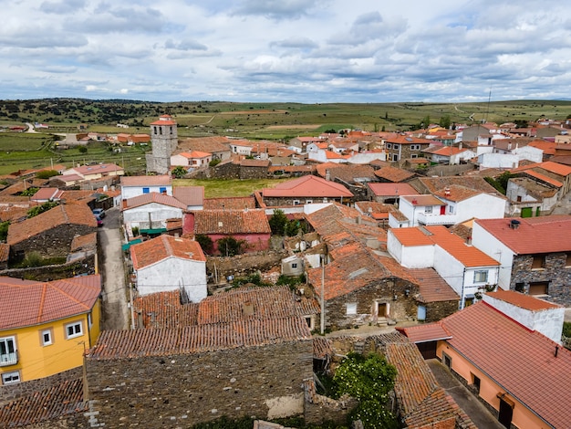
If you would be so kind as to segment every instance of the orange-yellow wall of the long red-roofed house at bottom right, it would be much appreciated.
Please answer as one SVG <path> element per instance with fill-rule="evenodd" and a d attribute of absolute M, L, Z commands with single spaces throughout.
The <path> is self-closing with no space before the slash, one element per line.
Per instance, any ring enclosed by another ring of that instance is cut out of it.
<path fill-rule="evenodd" d="M 436 350 L 437 356 L 444 363 L 442 353 L 446 353 L 452 358 L 452 370 L 459 374 L 468 384 L 472 384 L 473 375 L 480 379 L 480 394 L 479 396 L 493 408 L 499 412 L 500 398 L 498 394 L 505 393 L 500 385 L 493 382 L 491 378 L 485 375 L 482 371 L 472 365 L 470 361 L 466 361 L 461 354 L 452 349 L 446 341 L 438 341 Z M 472 375 L 473 374 L 473 375 Z M 512 424 L 521 429 L 547 429 L 551 426 L 545 424 L 543 420 L 539 419 L 534 413 L 529 411 L 523 403 L 520 403 L 513 396 L 509 395 L 508 398 L 514 401 L 514 415 L 512 416 Z"/>

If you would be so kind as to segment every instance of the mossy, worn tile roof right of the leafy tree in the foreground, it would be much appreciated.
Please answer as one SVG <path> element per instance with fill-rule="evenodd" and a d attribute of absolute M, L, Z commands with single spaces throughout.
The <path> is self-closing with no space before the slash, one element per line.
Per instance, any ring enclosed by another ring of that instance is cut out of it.
<path fill-rule="evenodd" d="M 386 353 L 387 360 L 398 371 L 395 394 L 406 427 L 476 429 L 466 413 L 438 385 L 414 344 L 404 341 L 389 343 Z"/>

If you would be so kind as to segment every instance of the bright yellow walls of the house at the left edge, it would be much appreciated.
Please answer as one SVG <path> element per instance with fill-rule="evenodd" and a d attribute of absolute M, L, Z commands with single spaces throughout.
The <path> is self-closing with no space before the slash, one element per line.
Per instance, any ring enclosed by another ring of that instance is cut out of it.
<path fill-rule="evenodd" d="M 0 337 L 16 338 L 18 351 L 17 364 L 0 367 L 0 372 L 20 371 L 20 382 L 28 382 L 81 366 L 84 350 L 93 345 L 99 336 L 99 299 L 92 310 L 91 318 L 93 322 L 90 332 L 87 313 L 42 325 L 0 331 Z M 79 321 L 82 335 L 68 339 L 66 325 Z M 51 331 L 50 345 L 43 344 L 44 330 Z"/>

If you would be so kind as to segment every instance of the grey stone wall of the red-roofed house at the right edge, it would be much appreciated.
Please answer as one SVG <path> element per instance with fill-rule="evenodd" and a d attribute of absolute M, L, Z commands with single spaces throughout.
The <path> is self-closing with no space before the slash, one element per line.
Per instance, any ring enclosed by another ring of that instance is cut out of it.
<path fill-rule="evenodd" d="M 523 289 L 519 291 L 529 293 L 530 283 L 548 282 L 548 296 L 545 299 L 571 307 L 571 267 L 566 266 L 566 253 L 546 255 L 542 269 L 531 269 L 533 259 L 532 255 L 514 256 L 510 289 L 518 290 L 516 284 L 522 283 Z"/>

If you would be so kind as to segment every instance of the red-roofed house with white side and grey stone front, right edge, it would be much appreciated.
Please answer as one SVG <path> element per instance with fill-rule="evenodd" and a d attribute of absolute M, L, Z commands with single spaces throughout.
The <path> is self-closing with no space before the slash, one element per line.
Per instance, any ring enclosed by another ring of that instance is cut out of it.
<path fill-rule="evenodd" d="M 500 262 L 500 288 L 571 306 L 571 215 L 475 219 L 472 245 Z"/>

